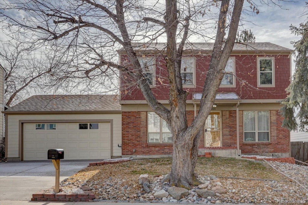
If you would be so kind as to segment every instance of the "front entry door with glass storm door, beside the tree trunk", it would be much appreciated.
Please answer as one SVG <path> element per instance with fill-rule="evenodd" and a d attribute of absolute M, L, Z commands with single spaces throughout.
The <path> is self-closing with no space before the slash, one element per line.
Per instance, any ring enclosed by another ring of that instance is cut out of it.
<path fill-rule="evenodd" d="M 221 125 L 220 113 L 211 112 L 205 121 L 204 126 L 205 147 L 221 146 Z"/>

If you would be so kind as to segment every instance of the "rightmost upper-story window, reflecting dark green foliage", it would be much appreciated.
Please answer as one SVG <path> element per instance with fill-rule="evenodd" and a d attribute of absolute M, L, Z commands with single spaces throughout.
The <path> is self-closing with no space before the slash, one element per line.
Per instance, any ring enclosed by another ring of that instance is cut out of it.
<path fill-rule="evenodd" d="M 258 87 L 275 86 L 275 58 L 257 58 Z"/>

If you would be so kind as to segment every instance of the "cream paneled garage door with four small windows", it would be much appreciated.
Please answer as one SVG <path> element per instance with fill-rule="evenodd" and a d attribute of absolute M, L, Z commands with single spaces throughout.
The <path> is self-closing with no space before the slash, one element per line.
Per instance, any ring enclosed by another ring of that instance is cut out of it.
<path fill-rule="evenodd" d="M 23 160 L 47 160 L 48 149 L 64 159 L 109 159 L 110 123 L 24 123 Z"/>

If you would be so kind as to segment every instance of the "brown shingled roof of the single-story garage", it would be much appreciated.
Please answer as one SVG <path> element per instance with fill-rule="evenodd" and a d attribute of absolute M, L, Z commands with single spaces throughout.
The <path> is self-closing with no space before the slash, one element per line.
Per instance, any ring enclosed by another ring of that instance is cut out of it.
<path fill-rule="evenodd" d="M 4 113 L 121 112 L 117 95 L 33 95 Z"/>

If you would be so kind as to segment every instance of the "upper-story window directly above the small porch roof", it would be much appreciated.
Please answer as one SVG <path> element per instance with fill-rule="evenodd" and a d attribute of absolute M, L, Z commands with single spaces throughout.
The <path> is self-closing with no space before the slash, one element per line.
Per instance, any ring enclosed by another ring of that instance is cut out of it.
<path fill-rule="evenodd" d="M 227 65 L 225 67 L 226 74 L 221 80 L 221 87 L 235 87 L 235 57 L 230 57 L 228 59 Z"/>

